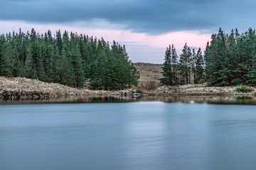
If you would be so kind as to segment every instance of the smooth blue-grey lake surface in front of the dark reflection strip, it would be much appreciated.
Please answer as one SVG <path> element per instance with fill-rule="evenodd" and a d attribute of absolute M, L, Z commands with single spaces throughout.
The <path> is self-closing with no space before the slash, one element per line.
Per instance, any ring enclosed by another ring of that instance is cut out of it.
<path fill-rule="evenodd" d="M 0 105 L 1 170 L 256 169 L 256 106 Z"/>

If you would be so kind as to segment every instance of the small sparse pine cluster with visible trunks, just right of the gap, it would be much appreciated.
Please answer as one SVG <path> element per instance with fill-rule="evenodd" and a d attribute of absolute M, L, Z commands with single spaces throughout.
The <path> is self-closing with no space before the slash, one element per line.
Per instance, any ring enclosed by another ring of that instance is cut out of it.
<path fill-rule="evenodd" d="M 181 55 L 177 55 L 174 45 L 166 48 L 163 76 L 160 81 L 166 85 L 199 84 L 205 81 L 205 60 L 201 48 L 191 50 L 184 45 Z"/>

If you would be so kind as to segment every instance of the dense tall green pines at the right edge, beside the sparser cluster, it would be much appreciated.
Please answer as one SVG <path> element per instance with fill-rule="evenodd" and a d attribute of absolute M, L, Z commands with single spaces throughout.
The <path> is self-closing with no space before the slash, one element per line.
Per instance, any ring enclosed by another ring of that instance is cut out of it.
<path fill-rule="evenodd" d="M 256 35 L 249 28 L 245 33 L 219 30 L 213 34 L 205 52 L 206 77 L 212 86 L 256 85 Z"/>

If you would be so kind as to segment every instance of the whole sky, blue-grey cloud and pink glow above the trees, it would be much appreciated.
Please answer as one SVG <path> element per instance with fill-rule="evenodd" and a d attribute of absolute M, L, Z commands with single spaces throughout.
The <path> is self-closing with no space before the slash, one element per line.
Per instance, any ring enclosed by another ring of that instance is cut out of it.
<path fill-rule="evenodd" d="M 203 50 L 212 33 L 255 28 L 254 0 L 0 0 L 0 33 L 69 33 L 115 40 L 132 62 L 163 63 L 169 44 Z"/>

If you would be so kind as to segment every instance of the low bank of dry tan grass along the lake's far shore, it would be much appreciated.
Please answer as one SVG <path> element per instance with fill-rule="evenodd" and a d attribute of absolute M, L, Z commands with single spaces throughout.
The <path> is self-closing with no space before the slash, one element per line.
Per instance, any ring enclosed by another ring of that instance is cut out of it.
<path fill-rule="evenodd" d="M 206 86 L 183 85 L 183 86 L 159 86 L 156 89 L 144 89 L 144 86 L 137 86 L 122 91 L 99 91 L 90 89 L 76 89 L 56 83 L 46 83 L 35 79 L 21 77 L 6 78 L 0 77 L 0 99 L 37 99 L 57 98 L 60 96 L 132 96 L 138 93 L 141 96 L 255 96 L 254 91 L 238 93 L 235 89 L 238 86 Z"/>

